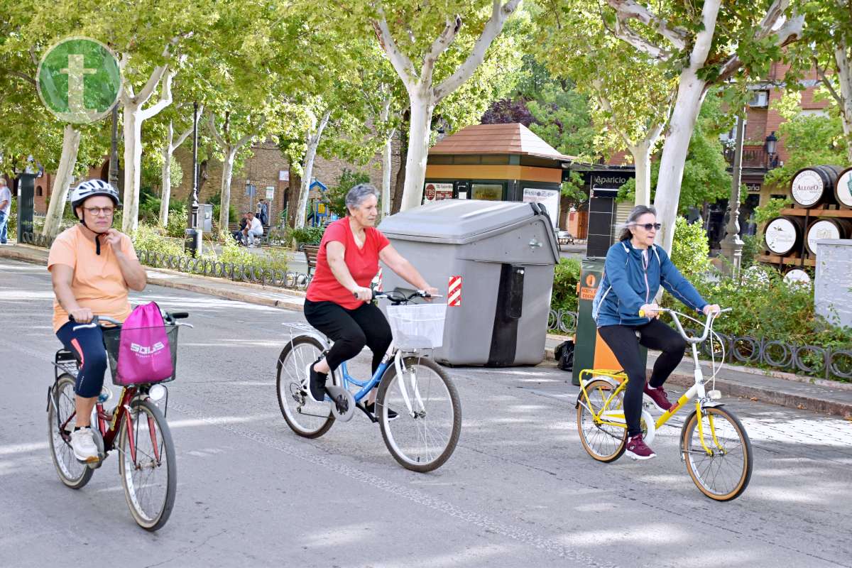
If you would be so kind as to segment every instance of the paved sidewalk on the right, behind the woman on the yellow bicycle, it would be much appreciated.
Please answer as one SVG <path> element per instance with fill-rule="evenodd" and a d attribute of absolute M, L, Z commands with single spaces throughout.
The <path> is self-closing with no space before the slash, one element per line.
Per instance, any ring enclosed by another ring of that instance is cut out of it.
<path fill-rule="evenodd" d="M 561 336 L 548 336 L 545 347 L 547 359 L 555 359 L 554 350 L 564 339 Z M 648 376 L 656 360 L 656 353 L 648 353 Z M 701 362 L 705 377 L 711 376 L 710 367 L 709 362 Z M 688 387 L 694 384 L 693 370 L 692 359 L 684 357 L 671 374 L 669 382 Z M 852 384 L 815 380 L 790 373 L 774 373 L 774 376 L 767 373 L 769 371 L 724 364 L 717 374 L 716 387 L 728 397 L 779 404 L 798 410 L 814 410 L 852 420 Z"/>

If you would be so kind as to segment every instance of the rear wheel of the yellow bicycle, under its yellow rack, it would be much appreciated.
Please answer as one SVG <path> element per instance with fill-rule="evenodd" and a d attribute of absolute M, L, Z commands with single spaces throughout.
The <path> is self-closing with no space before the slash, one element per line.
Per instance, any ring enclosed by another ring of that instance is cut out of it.
<path fill-rule="evenodd" d="M 580 442 L 583 443 L 583 447 L 589 452 L 589 455 L 598 462 L 614 462 L 625 453 L 626 423 L 625 426 L 596 423 L 594 416 L 600 414 L 615 388 L 610 382 L 592 379 L 585 386 L 585 392 L 589 395 L 588 402 L 581 393 L 577 406 L 577 430 L 580 434 Z M 623 414 L 625 410 L 624 401 L 625 392 L 621 391 L 618 396 L 609 401 L 607 410 L 621 410 Z"/>

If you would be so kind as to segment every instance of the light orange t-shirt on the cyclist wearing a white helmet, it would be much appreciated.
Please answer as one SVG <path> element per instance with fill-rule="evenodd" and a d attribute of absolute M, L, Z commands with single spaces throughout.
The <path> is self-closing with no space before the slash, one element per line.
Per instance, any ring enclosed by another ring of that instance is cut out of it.
<path fill-rule="evenodd" d="M 121 250 L 130 258 L 136 251 L 130 237 L 121 236 Z M 86 238 L 83 227 L 75 225 L 60 232 L 50 247 L 48 270 L 55 264 L 74 269 L 71 291 L 80 307 L 88 307 L 98 316 L 124 321 L 130 315 L 127 283 L 112 247 L 101 238 L 101 255 L 95 254 L 95 242 Z M 68 323 L 68 313 L 54 299 L 54 332 Z"/>

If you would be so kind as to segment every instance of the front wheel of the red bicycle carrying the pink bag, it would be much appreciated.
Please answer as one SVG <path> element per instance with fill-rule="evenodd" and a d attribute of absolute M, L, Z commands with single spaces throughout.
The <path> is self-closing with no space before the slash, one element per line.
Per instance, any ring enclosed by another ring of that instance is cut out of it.
<path fill-rule="evenodd" d="M 163 412 L 149 400 L 130 404 L 130 423 L 122 418 L 118 434 L 118 473 L 130 514 L 147 531 L 169 520 L 175 505 L 177 463 L 175 445 Z"/>

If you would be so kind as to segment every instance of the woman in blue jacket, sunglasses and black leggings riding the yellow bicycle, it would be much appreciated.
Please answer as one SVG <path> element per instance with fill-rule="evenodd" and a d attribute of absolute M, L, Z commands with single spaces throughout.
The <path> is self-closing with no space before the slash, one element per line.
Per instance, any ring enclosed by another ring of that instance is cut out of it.
<path fill-rule="evenodd" d="M 696 312 L 719 311 L 717 305 L 705 301 L 683 278 L 665 250 L 653 244 L 659 228 L 653 207 L 638 205 L 630 211 L 619 242 L 607 251 L 602 282 L 592 302 L 597 331 L 627 374 L 626 452 L 639 460 L 656 456 L 642 440 L 642 394 L 648 395 L 660 411 L 671 408 L 663 383 L 681 362 L 687 346 L 680 334 L 659 321 L 659 306 L 654 296 L 662 286 Z M 645 382 L 645 365 L 639 354 L 640 345 L 662 351 L 653 365 L 648 383 Z"/>

